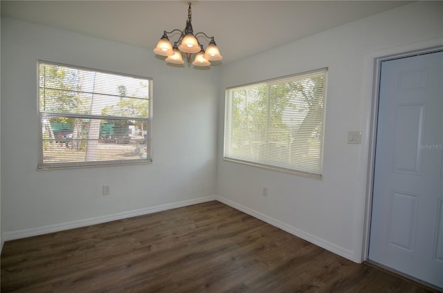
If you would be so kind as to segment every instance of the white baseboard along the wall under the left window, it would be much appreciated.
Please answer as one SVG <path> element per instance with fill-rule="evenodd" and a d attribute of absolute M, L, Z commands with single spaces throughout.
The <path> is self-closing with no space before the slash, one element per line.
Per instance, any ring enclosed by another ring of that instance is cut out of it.
<path fill-rule="evenodd" d="M 30 236 L 37 236 L 42 234 L 48 234 L 58 231 L 64 231 L 68 229 L 80 228 L 89 225 L 96 225 L 106 222 L 111 222 L 113 220 L 121 220 L 123 218 L 131 218 L 135 216 L 143 216 L 147 214 L 156 213 L 158 211 L 165 211 L 168 209 L 177 209 L 178 207 L 186 207 L 188 205 L 197 205 L 202 202 L 208 202 L 211 200 L 216 200 L 216 196 L 206 196 L 203 198 L 195 198 L 192 200 L 183 200 L 181 202 L 172 202 L 165 205 L 157 205 L 155 207 L 146 207 L 143 209 L 135 209 L 132 211 L 123 211 L 117 214 L 111 214 L 107 216 L 99 216 L 94 218 L 87 218 L 84 220 L 75 220 L 68 223 L 61 223 L 55 225 L 48 225 L 44 227 L 37 227 L 32 229 L 23 229 L 18 231 L 6 232 L 2 236 L 2 241 L 15 240 L 19 238 L 25 238 Z"/>

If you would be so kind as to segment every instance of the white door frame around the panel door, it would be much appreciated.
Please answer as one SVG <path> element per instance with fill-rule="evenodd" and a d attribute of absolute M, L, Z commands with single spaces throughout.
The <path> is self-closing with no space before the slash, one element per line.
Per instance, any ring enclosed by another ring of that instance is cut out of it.
<path fill-rule="evenodd" d="M 362 131 L 368 133 L 367 143 L 362 145 L 361 166 L 366 171 L 362 172 L 361 183 L 364 197 L 356 202 L 356 225 L 354 228 L 354 261 L 361 263 L 368 261 L 370 225 L 372 214 L 372 192 L 374 185 L 375 147 L 377 140 L 377 120 L 379 108 L 379 84 L 381 62 L 405 57 L 413 57 L 443 50 L 443 39 L 432 39 L 418 44 L 399 46 L 377 51 L 365 55 L 364 64 L 364 90 L 367 93 L 363 102 Z"/>

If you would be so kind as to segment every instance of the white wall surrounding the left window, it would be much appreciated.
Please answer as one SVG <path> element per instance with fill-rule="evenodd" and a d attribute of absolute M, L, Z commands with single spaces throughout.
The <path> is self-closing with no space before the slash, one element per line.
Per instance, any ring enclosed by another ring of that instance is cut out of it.
<path fill-rule="evenodd" d="M 37 59 L 152 77 L 154 162 L 36 171 Z M 1 73 L 5 240 L 215 195 L 217 68 L 173 68 L 150 48 L 3 18 Z M 102 196 L 104 184 L 110 185 L 109 196 Z"/>

